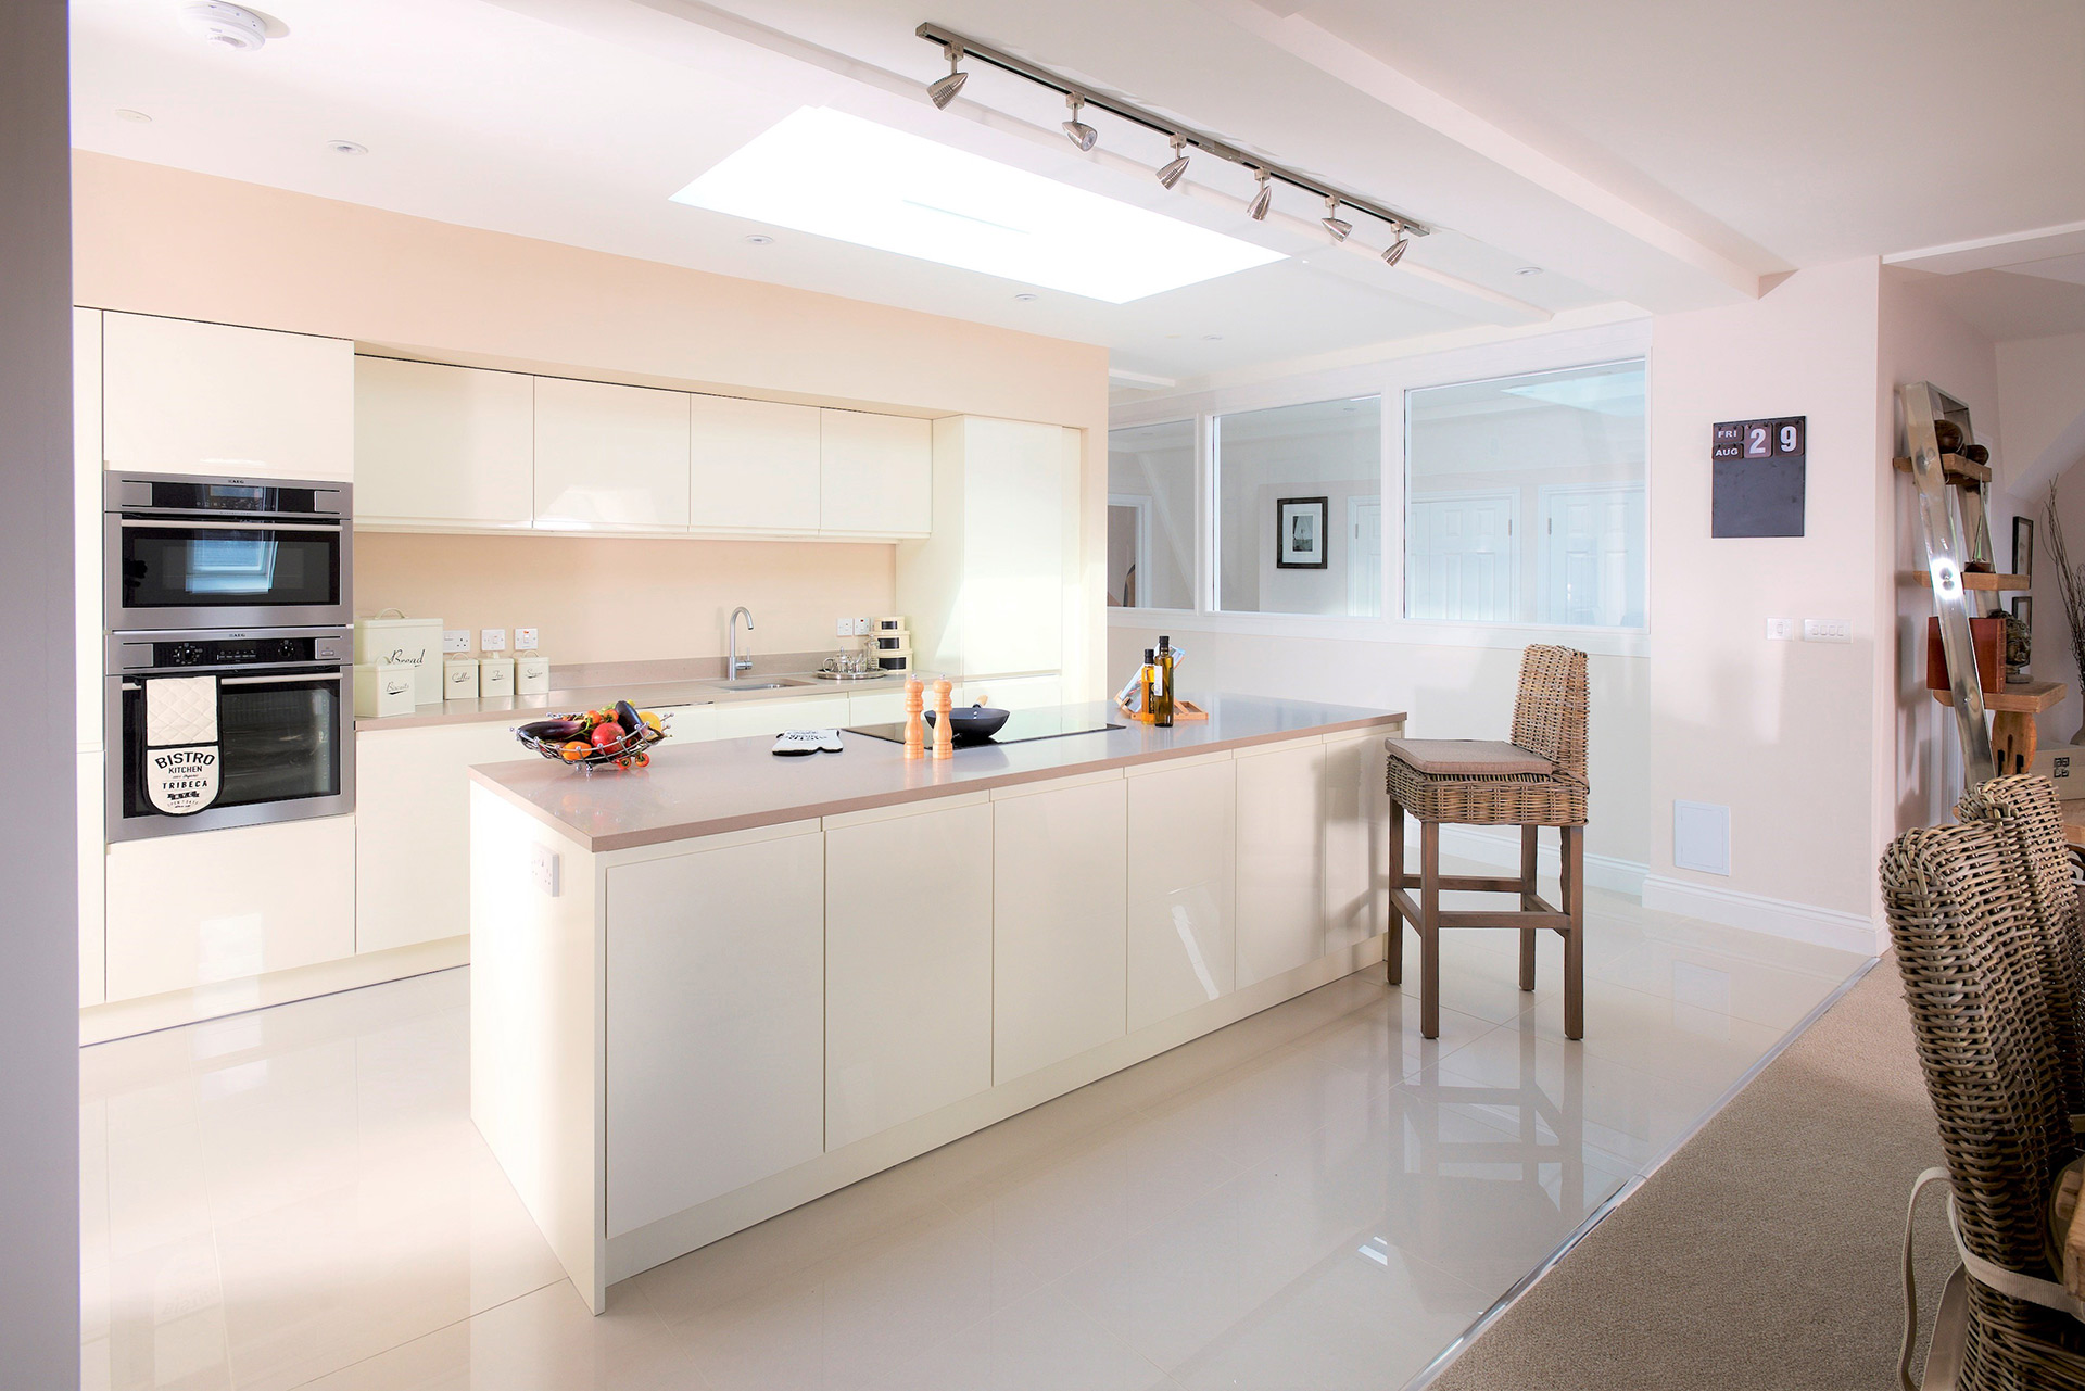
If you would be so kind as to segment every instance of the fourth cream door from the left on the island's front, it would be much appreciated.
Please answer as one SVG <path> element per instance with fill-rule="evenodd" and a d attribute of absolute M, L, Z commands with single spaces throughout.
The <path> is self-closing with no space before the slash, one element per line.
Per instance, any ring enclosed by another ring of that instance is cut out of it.
<path fill-rule="evenodd" d="M 1230 755 L 1128 776 L 1130 1030 L 1236 986 L 1236 770 Z"/>

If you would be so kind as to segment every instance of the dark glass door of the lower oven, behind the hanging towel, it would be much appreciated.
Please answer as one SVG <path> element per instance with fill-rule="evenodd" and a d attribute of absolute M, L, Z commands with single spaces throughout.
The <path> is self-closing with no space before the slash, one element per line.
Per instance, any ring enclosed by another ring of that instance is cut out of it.
<path fill-rule="evenodd" d="M 111 822 L 125 836 L 290 822 L 352 809 L 344 674 L 246 669 L 217 682 L 217 799 L 167 815 L 146 795 L 144 684 L 119 678 L 123 776 Z"/>

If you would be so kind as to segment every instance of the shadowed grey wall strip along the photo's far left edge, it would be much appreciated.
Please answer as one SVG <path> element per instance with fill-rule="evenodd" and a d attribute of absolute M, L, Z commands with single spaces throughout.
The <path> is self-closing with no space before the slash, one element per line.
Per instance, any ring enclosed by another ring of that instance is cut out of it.
<path fill-rule="evenodd" d="M 0 682 L 73 707 L 65 2 L 0 4 Z M 0 1383 L 79 1385 L 73 738 L 23 738 L 0 797 Z"/>

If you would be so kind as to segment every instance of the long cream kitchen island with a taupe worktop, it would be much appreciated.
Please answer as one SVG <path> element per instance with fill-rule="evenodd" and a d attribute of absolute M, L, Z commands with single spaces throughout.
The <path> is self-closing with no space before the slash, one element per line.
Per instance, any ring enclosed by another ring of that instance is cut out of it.
<path fill-rule="evenodd" d="M 1382 959 L 1403 715 L 1205 705 L 938 761 L 471 770 L 471 1116 L 592 1310 Z"/>

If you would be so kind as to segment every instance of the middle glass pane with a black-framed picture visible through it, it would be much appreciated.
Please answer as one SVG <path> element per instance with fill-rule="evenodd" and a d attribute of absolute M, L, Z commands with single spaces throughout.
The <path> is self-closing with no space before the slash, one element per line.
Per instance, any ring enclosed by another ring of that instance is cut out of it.
<path fill-rule="evenodd" d="M 1216 417 L 1218 607 L 1382 613 L 1382 398 Z"/>

